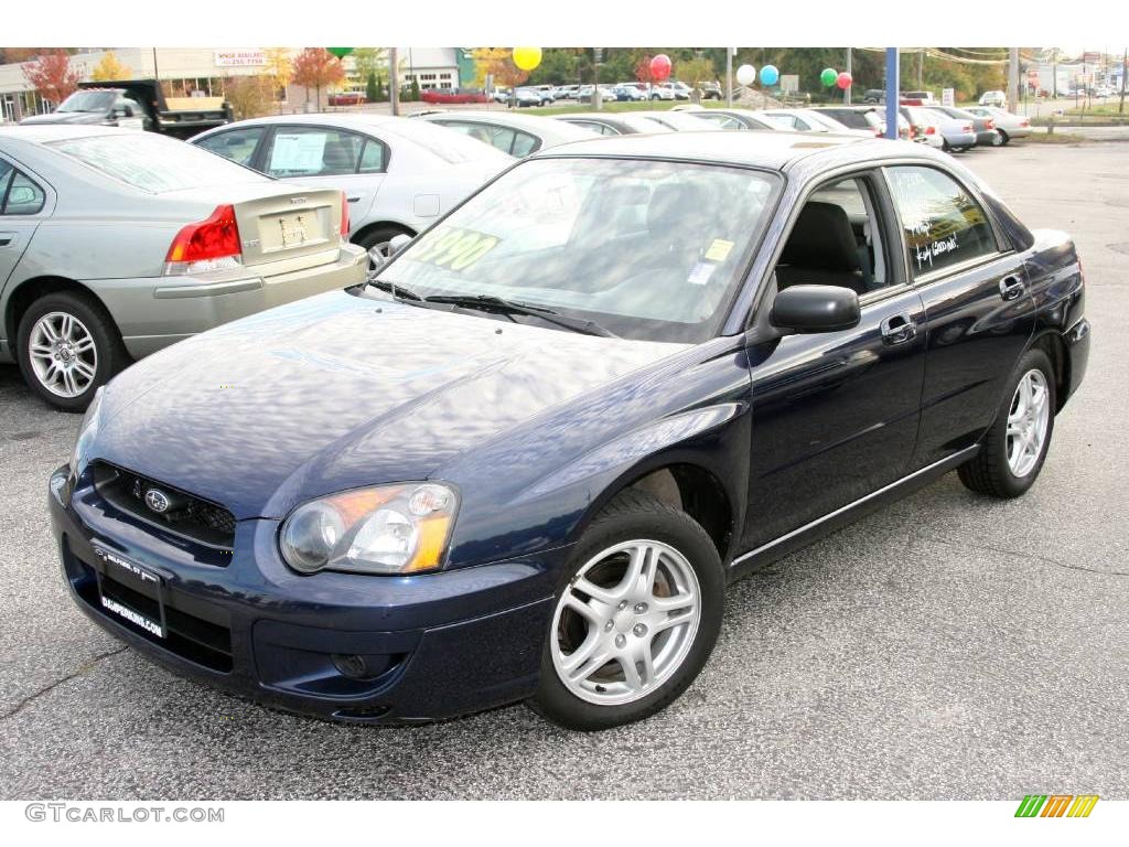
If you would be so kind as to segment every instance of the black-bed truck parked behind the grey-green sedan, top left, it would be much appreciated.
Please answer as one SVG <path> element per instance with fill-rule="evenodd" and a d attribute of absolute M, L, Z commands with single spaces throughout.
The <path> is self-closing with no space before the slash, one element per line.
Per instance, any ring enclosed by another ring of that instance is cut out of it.
<path fill-rule="evenodd" d="M 78 87 L 54 112 L 20 123 L 97 123 L 186 139 L 234 120 L 227 102 L 220 108 L 169 108 L 156 79 L 79 82 Z"/>

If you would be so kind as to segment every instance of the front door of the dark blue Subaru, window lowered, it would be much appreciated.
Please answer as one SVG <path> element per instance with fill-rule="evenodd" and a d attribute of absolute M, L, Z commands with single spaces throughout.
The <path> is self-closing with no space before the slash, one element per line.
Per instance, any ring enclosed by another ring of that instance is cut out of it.
<path fill-rule="evenodd" d="M 917 326 L 925 309 L 903 264 L 894 261 L 900 242 L 881 175 L 865 172 L 851 178 L 858 200 L 844 203 L 851 235 L 843 230 L 841 239 L 854 236 L 870 262 L 867 274 L 859 253 L 859 268 L 851 276 L 872 278 L 861 286 L 858 325 L 770 337 L 746 350 L 752 378 L 746 550 L 762 548 L 899 480 L 913 454 L 925 375 L 925 342 Z M 770 308 L 778 287 L 848 281 L 830 262 L 800 259 L 813 267 L 797 269 L 789 257 L 833 252 L 820 239 L 832 237 L 834 221 L 805 220 L 808 203 L 832 206 L 849 193 L 840 178 L 833 187 L 823 186 L 798 204 L 800 211 L 784 241 L 760 311 Z M 851 263 L 850 252 L 850 243 L 841 244 L 844 270 Z M 750 338 L 761 335 L 754 330 Z"/>

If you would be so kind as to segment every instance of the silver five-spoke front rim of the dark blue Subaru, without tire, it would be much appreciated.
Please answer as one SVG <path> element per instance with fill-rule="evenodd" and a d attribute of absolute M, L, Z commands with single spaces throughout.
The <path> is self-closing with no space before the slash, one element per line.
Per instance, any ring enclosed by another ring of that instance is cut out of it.
<path fill-rule="evenodd" d="M 587 702 L 647 697 L 685 661 L 701 620 L 698 576 L 659 541 L 628 541 L 592 557 L 564 587 L 551 631 L 553 667 Z"/>

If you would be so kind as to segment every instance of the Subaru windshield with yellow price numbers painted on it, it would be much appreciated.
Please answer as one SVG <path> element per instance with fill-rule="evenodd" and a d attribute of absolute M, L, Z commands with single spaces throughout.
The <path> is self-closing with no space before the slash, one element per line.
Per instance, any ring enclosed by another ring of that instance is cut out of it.
<path fill-rule="evenodd" d="M 764 225 L 774 174 L 639 159 L 535 159 L 418 238 L 380 279 L 485 295 L 622 338 L 714 337 Z"/>

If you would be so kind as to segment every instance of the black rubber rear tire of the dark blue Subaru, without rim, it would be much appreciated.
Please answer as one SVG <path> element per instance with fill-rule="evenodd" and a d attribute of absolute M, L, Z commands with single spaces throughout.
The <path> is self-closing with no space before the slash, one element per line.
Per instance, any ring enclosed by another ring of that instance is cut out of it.
<path fill-rule="evenodd" d="M 1047 435 L 1043 438 L 1039 459 L 1025 475 L 1016 477 L 1007 462 L 1007 418 L 1012 411 L 1012 403 L 1015 399 L 1019 381 L 1032 369 L 1041 370 L 1043 379 L 1047 383 L 1047 401 L 1050 404 L 1050 416 L 1047 421 Z M 980 453 L 961 465 L 956 471 L 965 488 L 991 497 L 1013 498 L 1019 497 L 1034 484 L 1039 472 L 1043 468 L 1043 462 L 1047 460 L 1047 452 L 1054 435 L 1054 410 L 1058 402 L 1056 392 L 1054 368 L 1051 365 L 1050 358 L 1038 347 L 1027 350 L 1023 355 L 1023 358 L 1019 359 L 1019 365 L 1012 375 L 1012 378 L 1007 382 L 1004 400 L 996 412 L 996 420 L 992 421 L 992 425 L 984 434 Z"/>

